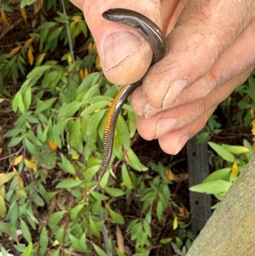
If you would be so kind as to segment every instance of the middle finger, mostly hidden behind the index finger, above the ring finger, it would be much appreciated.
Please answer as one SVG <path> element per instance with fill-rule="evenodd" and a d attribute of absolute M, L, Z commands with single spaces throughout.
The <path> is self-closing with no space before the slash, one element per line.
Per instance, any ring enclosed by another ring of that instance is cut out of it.
<path fill-rule="evenodd" d="M 205 97 L 212 89 L 226 82 L 231 77 L 235 77 L 244 70 L 250 70 L 255 64 L 255 20 L 242 31 L 233 44 L 226 49 L 225 52 L 217 59 L 212 68 L 207 74 L 192 86 L 187 87 L 175 99 L 175 102 L 170 107 L 177 107 L 178 105 L 193 102 L 198 98 Z M 249 72 L 247 72 L 248 76 Z M 153 95 L 154 96 L 154 95 Z M 142 104 L 136 103 L 137 101 Z M 142 89 L 135 91 L 132 95 L 132 105 L 136 114 L 139 116 L 144 115 L 149 118 L 159 112 L 147 104 L 147 100 L 143 97 Z"/>

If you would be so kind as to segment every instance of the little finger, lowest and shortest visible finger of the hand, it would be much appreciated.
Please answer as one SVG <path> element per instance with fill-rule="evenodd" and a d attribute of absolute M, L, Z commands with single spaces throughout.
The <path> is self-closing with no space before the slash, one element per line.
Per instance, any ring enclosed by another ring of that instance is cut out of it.
<path fill-rule="evenodd" d="M 190 124 L 187 124 L 187 126 L 184 126 L 178 130 L 170 131 L 164 136 L 160 137 L 158 140 L 161 149 L 168 154 L 178 154 L 182 147 L 184 147 L 186 144 L 187 140 L 191 139 L 194 135 L 196 135 L 196 133 L 203 129 L 208 118 L 212 116 L 212 113 L 216 107 L 217 106 L 209 109 L 198 119 Z"/>

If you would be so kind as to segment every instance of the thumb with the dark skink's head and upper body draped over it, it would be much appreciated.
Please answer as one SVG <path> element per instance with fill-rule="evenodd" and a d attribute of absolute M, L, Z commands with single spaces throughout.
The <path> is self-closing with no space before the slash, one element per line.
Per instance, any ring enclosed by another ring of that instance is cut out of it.
<path fill-rule="evenodd" d="M 149 17 L 161 27 L 160 1 L 115 2 L 85 1 L 83 11 L 107 79 L 115 84 L 132 84 L 147 72 L 152 60 L 152 49 L 135 29 L 105 20 L 102 13 L 117 7 L 131 9 Z"/>

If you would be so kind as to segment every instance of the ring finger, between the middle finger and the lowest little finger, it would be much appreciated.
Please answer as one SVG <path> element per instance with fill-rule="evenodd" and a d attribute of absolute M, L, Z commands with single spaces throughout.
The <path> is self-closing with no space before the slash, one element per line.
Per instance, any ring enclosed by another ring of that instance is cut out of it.
<path fill-rule="evenodd" d="M 239 75 L 235 79 L 216 87 L 205 98 L 161 111 L 150 119 L 138 116 L 138 132 L 144 139 L 152 140 L 164 137 L 170 130 L 178 130 L 193 123 L 210 109 L 215 109 L 241 82 L 244 82 L 245 77 L 245 73 Z"/>

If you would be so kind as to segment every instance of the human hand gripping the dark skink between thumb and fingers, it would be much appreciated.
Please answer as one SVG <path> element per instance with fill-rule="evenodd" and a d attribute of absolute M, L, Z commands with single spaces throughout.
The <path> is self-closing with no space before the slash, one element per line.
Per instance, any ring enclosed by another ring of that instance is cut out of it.
<path fill-rule="evenodd" d="M 166 153 L 177 154 L 253 69 L 254 1 L 73 3 L 84 11 L 105 75 L 116 84 L 143 77 L 152 50 L 131 27 L 104 20 L 104 11 L 136 10 L 165 34 L 171 31 L 167 56 L 149 69 L 131 97 L 138 132 L 147 140 L 158 139 Z"/>

